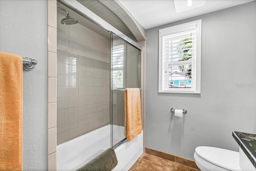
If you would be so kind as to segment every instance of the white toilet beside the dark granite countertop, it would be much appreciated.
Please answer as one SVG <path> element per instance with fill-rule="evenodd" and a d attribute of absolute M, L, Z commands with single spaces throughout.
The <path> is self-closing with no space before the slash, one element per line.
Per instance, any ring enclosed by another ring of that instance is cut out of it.
<path fill-rule="evenodd" d="M 196 165 L 201 171 L 242 171 L 239 152 L 216 147 L 196 147 Z"/>

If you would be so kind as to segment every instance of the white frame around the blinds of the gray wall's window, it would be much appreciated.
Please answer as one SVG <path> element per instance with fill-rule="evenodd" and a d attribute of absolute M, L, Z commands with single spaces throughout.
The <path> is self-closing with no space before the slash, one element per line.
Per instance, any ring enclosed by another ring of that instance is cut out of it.
<path fill-rule="evenodd" d="M 194 89 L 190 88 L 170 88 L 163 89 L 163 65 L 162 65 L 162 40 L 163 36 L 170 34 L 176 34 L 179 32 L 185 32 L 196 26 L 196 59 L 195 59 L 195 69 L 196 74 L 194 75 L 195 87 Z M 158 48 L 158 93 L 196 93 L 200 94 L 201 92 L 201 39 L 202 39 L 202 20 L 196 20 L 176 26 L 171 26 L 168 28 L 159 30 L 159 48 Z"/>

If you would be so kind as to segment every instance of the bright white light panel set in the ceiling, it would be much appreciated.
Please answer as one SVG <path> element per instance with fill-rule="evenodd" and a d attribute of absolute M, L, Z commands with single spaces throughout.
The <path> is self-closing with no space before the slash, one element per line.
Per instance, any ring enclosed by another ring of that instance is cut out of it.
<path fill-rule="evenodd" d="M 184 12 L 203 6 L 206 0 L 174 0 L 176 12 Z"/>

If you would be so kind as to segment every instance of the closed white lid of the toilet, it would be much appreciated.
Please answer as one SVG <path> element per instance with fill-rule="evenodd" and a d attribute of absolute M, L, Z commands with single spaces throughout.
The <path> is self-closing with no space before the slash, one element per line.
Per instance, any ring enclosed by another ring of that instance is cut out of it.
<path fill-rule="evenodd" d="M 196 147 L 196 153 L 202 159 L 230 171 L 241 171 L 239 152 L 216 147 Z"/>

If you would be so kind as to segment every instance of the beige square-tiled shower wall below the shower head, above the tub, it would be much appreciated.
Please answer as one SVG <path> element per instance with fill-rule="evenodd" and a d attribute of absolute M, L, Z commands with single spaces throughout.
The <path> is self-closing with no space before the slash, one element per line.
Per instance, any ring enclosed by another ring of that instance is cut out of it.
<path fill-rule="evenodd" d="M 63 18 L 57 13 L 57 145 L 110 123 L 110 39 Z"/>

